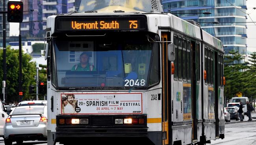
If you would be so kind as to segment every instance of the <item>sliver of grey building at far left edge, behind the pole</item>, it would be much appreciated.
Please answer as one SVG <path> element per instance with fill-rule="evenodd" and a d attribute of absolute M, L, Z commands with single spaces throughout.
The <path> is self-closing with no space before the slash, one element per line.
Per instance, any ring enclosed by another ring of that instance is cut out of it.
<path fill-rule="evenodd" d="M 7 11 L 7 0 L 5 1 L 5 11 Z M 0 11 L 4 11 L 3 1 L 0 2 Z M 7 14 L 6 14 L 6 42 L 9 41 L 10 35 L 10 25 L 7 21 Z M 7 46 L 7 45 L 6 45 Z M 3 14 L 0 14 L 0 47 L 3 47 Z"/>

